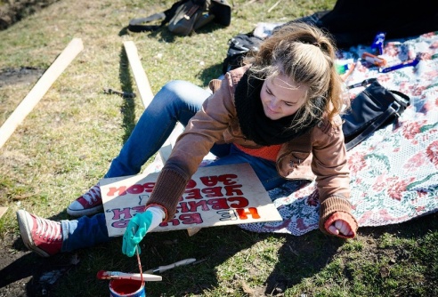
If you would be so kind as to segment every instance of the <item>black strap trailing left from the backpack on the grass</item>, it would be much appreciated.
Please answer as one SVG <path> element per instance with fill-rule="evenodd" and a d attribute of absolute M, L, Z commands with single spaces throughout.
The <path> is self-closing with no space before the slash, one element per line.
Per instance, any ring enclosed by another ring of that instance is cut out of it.
<path fill-rule="evenodd" d="M 146 18 L 132 19 L 129 21 L 128 29 L 132 32 L 155 31 L 158 28 L 165 26 L 166 23 L 168 23 L 169 20 L 171 20 L 174 17 L 174 14 L 178 9 L 178 7 L 187 1 L 189 0 L 178 1 L 174 3 L 172 7 L 170 7 L 166 11 L 151 14 Z M 159 25 L 144 25 L 154 20 L 162 20 L 162 21 L 161 24 Z"/>

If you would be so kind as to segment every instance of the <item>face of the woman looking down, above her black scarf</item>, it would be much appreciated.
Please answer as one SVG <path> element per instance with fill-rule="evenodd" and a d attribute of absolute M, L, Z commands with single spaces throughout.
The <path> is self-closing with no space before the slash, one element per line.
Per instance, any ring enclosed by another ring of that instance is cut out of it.
<path fill-rule="evenodd" d="M 269 77 L 260 92 L 264 115 L 272 120 L 293 115 L 304 104 L 307 90 L 307 86 L 297 86 L 288 76 Z"/>

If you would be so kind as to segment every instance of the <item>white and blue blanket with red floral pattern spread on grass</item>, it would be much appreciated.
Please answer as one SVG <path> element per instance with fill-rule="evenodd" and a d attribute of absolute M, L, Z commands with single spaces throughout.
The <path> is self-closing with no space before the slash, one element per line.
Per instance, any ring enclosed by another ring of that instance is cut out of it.
<path fill-rule="evenodd" d="M 338 52 L 337 63 L 354 63 L 346 85 L 376 77 L 390 90 L 410 96 L 410 107 L 399 120 L 375 132 L 348 151 L 353 215 L 360 227 L 409 221 L 438 211 L 438 32 L 388 40 L 380 57 L 387 66 L 414 59 L 415 67 L 382 73 L 361 60 L 369 45 Z M 345 92 L 350 98 L 363 91 Z M 158 160 L 159 163 L 159 160 Z M 159 165 L 155 163 L 155 169 Z M 254 232 L 303 235 L 318 229 L 319 201 L 314 182 L 288 181 L 269 191 L 283 221 L 239 225 Z"/>

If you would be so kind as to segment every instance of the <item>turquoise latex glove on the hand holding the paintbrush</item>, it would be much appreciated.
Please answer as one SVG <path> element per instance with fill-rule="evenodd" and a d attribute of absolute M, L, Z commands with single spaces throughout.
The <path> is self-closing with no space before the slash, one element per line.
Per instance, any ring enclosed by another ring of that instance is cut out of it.
<path fill-rule="evenodd" d="M 125 234 L 123 235 L 122 253 L 132 257 L 135 253 L 135 248 L 138 246 L 138 253 L 142 253 L 140 242 L 150 229 L 150 223 L 153 219 L 153 214 L 146 210 L 144 213 L 137 213 L 134 218 L 129 221 Z"/>

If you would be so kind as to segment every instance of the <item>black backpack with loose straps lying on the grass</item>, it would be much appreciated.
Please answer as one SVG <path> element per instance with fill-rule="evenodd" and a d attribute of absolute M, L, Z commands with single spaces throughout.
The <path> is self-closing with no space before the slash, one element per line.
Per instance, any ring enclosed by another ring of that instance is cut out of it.
<path fill-rule="evenodd" d="M 161 20 L 159 25 L 146 25 L 157 20 Z M 169 31 L 187 36 L 211 21 L 230 25 L 231 5 L 226 0 L 180 0 L 164 12 L 130 20 L 128 29 L 132 32 L 155 31 L 168 23 Z"/>

